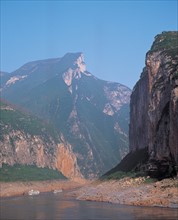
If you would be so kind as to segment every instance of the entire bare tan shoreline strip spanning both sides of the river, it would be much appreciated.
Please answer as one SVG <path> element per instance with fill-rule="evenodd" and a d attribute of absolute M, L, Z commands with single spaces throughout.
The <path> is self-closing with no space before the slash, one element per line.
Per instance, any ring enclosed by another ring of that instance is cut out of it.
<path fill-rule="evenodd" d="M 26 195 L 32 189 L 40 192 L 61 189 L 67 192 L 65 196 L 73 196 L 78 200 L 178 208 L 178 179 L 164 179 L 151 183 L 144 177 L 126 177 L 121 180 L 92 183 L 84 180 L 1 182 L 0 197 Z"/>

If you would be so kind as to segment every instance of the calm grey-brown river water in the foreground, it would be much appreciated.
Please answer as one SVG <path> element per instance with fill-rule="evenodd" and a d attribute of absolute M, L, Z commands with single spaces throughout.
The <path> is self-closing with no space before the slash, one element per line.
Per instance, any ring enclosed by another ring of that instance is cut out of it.
<path fill-rule="evenodd" d="M 78 201 L 63 193 L 1 198 L 0 219 L 177 220 L 178 210 Z"/>

